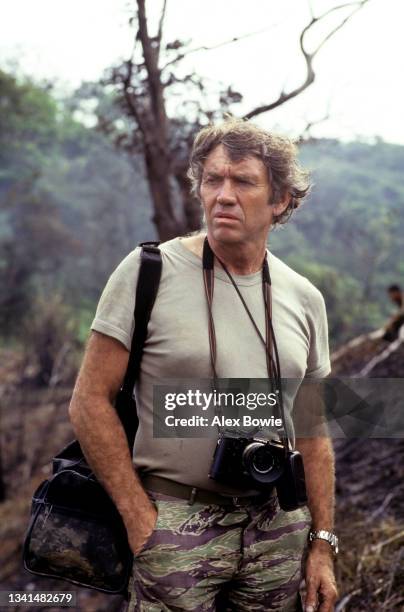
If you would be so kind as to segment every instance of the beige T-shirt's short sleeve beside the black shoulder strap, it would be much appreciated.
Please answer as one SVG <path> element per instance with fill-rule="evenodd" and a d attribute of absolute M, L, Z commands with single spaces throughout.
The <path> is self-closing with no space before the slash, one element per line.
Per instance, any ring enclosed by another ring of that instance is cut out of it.
<path fill-rule="evenodd" d="M 140 248 L 137 248 L 125 257 L 109 277 L 91 324 L 91 329 L 119 340 L 128 351 L 134 329 L 139 267 Z"/>

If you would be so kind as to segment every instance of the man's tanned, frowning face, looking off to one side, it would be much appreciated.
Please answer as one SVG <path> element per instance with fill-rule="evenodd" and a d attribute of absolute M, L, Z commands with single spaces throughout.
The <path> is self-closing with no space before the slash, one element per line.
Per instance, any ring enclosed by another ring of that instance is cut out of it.
<path fill-rule="evenodd" d="M 226 243 L 265 242 L 274 214 L 287 206 L 270 205 L 271 193 L 261 160 L 232 161 L 217 146 L 205 161 L 200 189 L 209 236 Z"/>

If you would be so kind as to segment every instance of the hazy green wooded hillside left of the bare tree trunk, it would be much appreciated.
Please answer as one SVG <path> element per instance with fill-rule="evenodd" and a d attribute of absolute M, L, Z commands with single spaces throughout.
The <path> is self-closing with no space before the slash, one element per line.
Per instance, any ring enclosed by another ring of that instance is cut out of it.
<path fill-rule="evenodd" d="M 0 326 L 21 336 L 38 295 L 93 309 L 113 267 L 155 232 L 139 164 L 75 119 L 74 96 L 56 103 L 0 72 L 0 102 Z"/>

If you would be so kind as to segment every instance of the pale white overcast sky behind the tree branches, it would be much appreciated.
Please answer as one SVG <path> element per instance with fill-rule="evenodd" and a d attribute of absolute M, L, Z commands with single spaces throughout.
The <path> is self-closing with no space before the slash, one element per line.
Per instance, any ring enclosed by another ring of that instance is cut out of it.
<path fill-rule="evenodd" d="M 165 42 L 190 48 L 237 43 L 189 55 L 181 70 L 204 76 L 207 87 L 231 84 L 243 94 L 235 114 L 248 112 L 300 84 L 305 65 L 298 39 L 310 20 L 343 0 L 167 0 Z M 18 62 L 34 78 L 57 80 L 62 90 L 98 79 L 128 57 L 133 0 L 0 0 L 0 66 Z M 151 30 L 161 0 L 147 0 Z M 343 10 L 316 26 L 311 48 L 346 15 Z M 257 117 L 292 136 L 308 122 L 316 137 L 404 144 L 402 0 L 369 0 L 315 59 L 315 83 L 279 109 Z M 253 34 L 247 36 L 249 34 Z M 175 106 L 170 111 L 175 113 Z"/>

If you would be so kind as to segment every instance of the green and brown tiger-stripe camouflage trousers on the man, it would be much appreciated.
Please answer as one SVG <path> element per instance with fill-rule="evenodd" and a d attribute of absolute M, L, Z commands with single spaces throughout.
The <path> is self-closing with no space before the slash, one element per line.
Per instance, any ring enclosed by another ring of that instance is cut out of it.
<path fill-rule="evenodd" d="M 157 523 L 133 563 L 128 612 L 299 609 L 307 509 L 283 512 L 276 497 L 190 506 L 149 495 Z"/>

